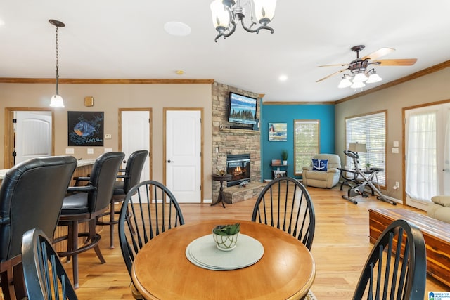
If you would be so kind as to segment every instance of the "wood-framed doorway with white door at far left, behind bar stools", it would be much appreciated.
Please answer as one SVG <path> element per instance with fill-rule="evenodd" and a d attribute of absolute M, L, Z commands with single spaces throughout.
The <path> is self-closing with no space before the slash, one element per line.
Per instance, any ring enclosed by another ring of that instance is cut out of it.
<path fill-rule="evenodd" d="M 53 119 L 54 112 L 49 108 L 5 108 L 4 169 L 32 157 L 54 155 Z"/>

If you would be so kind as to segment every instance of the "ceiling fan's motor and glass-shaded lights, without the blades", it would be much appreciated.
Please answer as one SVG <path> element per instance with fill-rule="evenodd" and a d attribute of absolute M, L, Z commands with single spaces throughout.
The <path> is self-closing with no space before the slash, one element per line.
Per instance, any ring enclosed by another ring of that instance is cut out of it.
<path fill-rule="evenodd" d="M 359 51 L 363 48 L 364 46 L 354 46 L 352 48 L 356 52 L 356 60 L 349 63 L 348 70 L 350 70 L 351 74 L 344 74 L 338 88 L 345 89 L 351 87 L 352 89 L 359 89 L 366 86 L 366 84 L 373 84 L 383 80 L 375 69 L 368 70 L 369 65 L 380 65 L 380 62 L 371 62 L 368 59 L 363 60 L 359 58 Z"/>

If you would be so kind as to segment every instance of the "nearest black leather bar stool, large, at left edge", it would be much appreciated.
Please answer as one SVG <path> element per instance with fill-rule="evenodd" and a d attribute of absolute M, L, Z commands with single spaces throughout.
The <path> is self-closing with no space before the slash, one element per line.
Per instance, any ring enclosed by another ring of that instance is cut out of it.
<path fill-rule="evenodd" d="M 0 188 L 0 281 L 4 299 L 22 299 L 23 234 L 35 227 L 53 236 L 77 159 L 29 159 L 6 172 Z"/>

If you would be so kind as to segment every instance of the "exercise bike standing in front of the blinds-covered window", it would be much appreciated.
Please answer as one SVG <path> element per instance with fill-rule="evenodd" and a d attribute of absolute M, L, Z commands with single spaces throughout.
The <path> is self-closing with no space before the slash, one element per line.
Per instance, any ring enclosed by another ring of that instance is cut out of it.
<path fill-rule="evenodd" d="M 359 197 L 359 196 L 368 197 L 368 195 L 364 191 L 364 188 L 366 188 L 366 185 L 368 185 L 373 190 L 374 193 L 378 194 L 378 196 L 377 196 L 378 200 L 390 203 L 392 205 L 397 205 L 396 202 L 394 202 L 392 200 L 388 200 L 385 197 L 385 195 L 383 195 L 383 193 L 381 193 L 381 191 L 380 191 L 380 185 L 378 184 L 377 174 L 380 171 L 384 171 L 383 168 L 373 168 L 372 167 L 370 173 L 364 173 L 364 171 L 361 171 L 361 169 L 359 169 L 359 166 L 358 166 L 359 155 L 357 155 L 355 152 L 350 151 L 350 150 L 344 150 L 344 154 L 353 160 L 354 171 L 356 172 L 356 176 L 355 176 L 354 184 L 349 183 L 350 187 L 347 190 L 347 195 L 342 195 L 342 198 L 344 198 L 345 200 L 349 200 L 350 202 L 353 202 L 353 204 L 358 204 L 358 202 L 356 202 L 356 200 L 355 200 L 356 197 Z M 373 178 L 376 179 L 376 183 L 378 186 L 373 184 Z"/>

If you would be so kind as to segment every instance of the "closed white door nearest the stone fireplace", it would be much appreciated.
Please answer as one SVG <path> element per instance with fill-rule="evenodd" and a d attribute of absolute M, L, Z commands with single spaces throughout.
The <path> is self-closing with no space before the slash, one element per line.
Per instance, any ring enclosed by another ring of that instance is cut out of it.
<path fill-rule="evenodd" d="M 166 185 L 178 202 L 201 202 L 201 112 L 166 112 Z"/>

